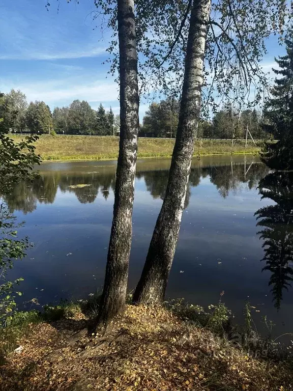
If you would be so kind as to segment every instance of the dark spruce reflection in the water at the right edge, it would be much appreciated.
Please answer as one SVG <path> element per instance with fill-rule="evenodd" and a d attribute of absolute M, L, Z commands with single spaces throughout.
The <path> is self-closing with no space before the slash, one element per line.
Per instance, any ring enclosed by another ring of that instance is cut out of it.
<path fill-rule="evenodd" d="M 259 182 L 262 198 L 276 204 L 260 208 L 255 212 L 261 227 L 258 232 L 263 239 L 262 247 L 266 266 L 270 270 L 269 285 L 272 286 L 274 305 L 280 309 L 283 291 L 288 290 L 293 281 L 293 173 L 270 173 Z"/>

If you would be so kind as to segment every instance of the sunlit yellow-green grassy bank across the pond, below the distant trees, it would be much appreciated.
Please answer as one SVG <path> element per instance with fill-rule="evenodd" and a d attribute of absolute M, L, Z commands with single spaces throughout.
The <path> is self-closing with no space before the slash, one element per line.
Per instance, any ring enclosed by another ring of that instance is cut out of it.
<path fill-rule="evenodd" d="M 23 136 L 12 136 L 20 141 Z M 97 136 L 50 136 L 41 135 L 36 142 L 36 153 L 43 160 L 106 160 L 116 159 L 119 150 L 118 137 Z M 170 138 L 139 138 L 139 158 L 171 157 L 174 139 Z M 197 155 L 233 155 L 258 154 L 260 145 L 254 146 L 252 141 L 245 148 L 245 141 L 237 141 L 231 146 L 226 140 L 200 140 L 194 144 L 194 156 Z"/>

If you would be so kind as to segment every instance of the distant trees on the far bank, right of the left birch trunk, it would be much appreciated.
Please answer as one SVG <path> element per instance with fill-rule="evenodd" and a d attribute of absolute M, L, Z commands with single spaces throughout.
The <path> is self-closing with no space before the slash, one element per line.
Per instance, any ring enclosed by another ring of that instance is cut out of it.
<path fill-rule="evenodd" d="M 145 112 L 140 136 L 175 137 L 179 120 L 180 102 L 167 98 L 159 103 L 152 103 Z M 224 105 L 211 121 L 200 121 L 197 129 L 198 138 L 245 138 L 247 126 L 254 138 L 263 138 L 263 119 L 259 110 L 236 110 L 231 105 Z"/>

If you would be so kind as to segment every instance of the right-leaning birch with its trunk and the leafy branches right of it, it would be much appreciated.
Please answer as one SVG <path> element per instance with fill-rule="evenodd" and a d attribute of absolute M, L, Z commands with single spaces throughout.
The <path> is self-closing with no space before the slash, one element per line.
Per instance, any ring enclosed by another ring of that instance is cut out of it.
<path fill-rule="evenodd" d="M 270 0 L 257 3 L 250 0 L 222 0 L 213 7 L 216 12 L 214 18 L 210 12 L 210 2 L 193 0 L 192 6 L 189 2 L 188 7 L 192 7 L 192 11 L 177 138 L 165 199 L 133 295 L 134 302 L 156 303 L 163 301 L 165 296 L 186 197 L 205 69 L 213 71 L 206 95 L 208 102 L 216 103 L 215 86 L 219 94 L 226 98 L 233 97 L 239 103 L 248 99 L 253 87 L 255 104 L 263 93 L 263 87 L 266 87 L 265 74 L 258 65 L 266 52 L 265 39 L 276 31 L 282 34 L 285 18 L 290 17 L 285 1 L 276 5 Z M 187 16 L 183 19 L 184 23 L 186 19 Z M 181 35 L 179 31 L 177 37 Z M 160 66 L 172 54 L 174 46 L 170 45 Z"/>

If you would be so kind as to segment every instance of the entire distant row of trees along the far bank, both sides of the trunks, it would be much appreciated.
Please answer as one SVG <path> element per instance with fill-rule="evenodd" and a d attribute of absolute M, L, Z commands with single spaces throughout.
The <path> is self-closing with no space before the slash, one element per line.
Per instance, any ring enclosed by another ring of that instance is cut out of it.
<path fill-rule="evenodd" d="M 55 107 L 52 113 L 43 101 L 36 100 L 28 104 L 25 94 L 20 90 L 12 89 L 4 95 L 4 99 L 6 109 L 4 112 L 4 106 L 0 106 L 0 117 L 4 118 L 0 123 L 0 131 L 106 136 L 113 135 L 113 130 L 114 134 L 119 130 L 120 116 L 114 116 L 111 107 L 106 111 L 102 103 L 98 110 L 94 110 L 89 102 L 76 99 L 69 106 Z M 255 108 L 240 111 L 226 104 L 215 113 L 212 120 L 198 123 L 197 137 L 245 138 L 248 127 L 256 139 L 268 138 L 269 135 L 278 138 L 282 127 L 275 126 L 275 111 L 269 109 L 269 105 L 273 106 L 276 100 L 267 101 L 263 115 Z M 279 104 L 279 100 L 277 103 Z M 180 101 L 177 99 L 167 98 L 159 103 L 153 102 L 145 112 L 139 135 L 175 137 L 179 109 Z"/>

